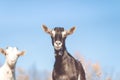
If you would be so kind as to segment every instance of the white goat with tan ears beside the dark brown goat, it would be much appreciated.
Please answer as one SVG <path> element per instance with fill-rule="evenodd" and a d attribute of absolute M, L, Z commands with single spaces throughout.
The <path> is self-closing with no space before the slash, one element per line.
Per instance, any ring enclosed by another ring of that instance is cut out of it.
<path fill-rule="evenodd" d="M 8 47 L 6 50 L 0 48 L 0 53 L 4 54 L 6 61 L 0 68 L 0 80 L 16 80 L 15 65 L 19 56 L 24 55 L 24 51 L 18 51 L 16 47 Z"/>

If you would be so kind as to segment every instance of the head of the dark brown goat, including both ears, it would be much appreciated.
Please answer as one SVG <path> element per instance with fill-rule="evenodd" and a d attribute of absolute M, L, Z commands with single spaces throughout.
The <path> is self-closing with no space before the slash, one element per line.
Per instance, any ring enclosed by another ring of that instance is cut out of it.
<path fill-rule="evenodd" d="M 72 27 L 70 30 L 64 30 L 62 27 L 55 27 L 53 30 L 47 28 L 47 26 L 43 25 L 43 30 L 51 35 L 52 45 L 55 50 L 61 50 L 65 47 L 65 39 L 67 35 L 70 35 L 74 32 L 75 27 Z"/>

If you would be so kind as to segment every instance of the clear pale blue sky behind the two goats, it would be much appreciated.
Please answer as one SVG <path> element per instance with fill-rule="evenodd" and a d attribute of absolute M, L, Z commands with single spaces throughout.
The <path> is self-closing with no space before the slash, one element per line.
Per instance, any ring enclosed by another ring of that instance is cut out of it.
<path fill-rule="evenodd" d="M 17 66 L 52 70 L 54 50 L 51 38 L 41 25 L 69 29 L 66 46 L 74 55 L 80 52 L 87 60 L 103 68 L 120 72 L 120 1 L 119 0 L 2 0 L 0 1 L 0 47 L 16 46 L 26 50 Z M 0 55 L 0 63 L 4 63 Z"/>

